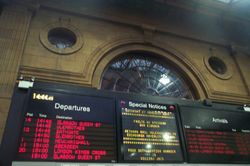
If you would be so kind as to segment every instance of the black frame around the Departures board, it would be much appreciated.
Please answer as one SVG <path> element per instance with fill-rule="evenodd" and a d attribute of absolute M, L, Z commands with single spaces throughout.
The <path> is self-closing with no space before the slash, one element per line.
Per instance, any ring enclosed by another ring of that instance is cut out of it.
<path fill-rule="evenodd" d="M 109 92 L 100 92 L 96 89 L 91 88 L 84 88 L 84 87 L 77 87 L 77 86 L 65 86 L 65 85 L 57 85 L 57 84 L 51 84 L 51 83 L 38 83 L 37 85 L 34 85 L 33 88 L 25 90 L 25 89 L 19 89 L 18 87 L 15 87 L 15 92 L 13 94 L 11 108 L 8 115 L 8 120 L 6 123 L 5 133 L 3 136 L 1 149 L 0 149 L 0 166 L 11 166 L 12 161 L 27 161 L 27 160 L 15 160 L 19 144 L 20 144 L 20 136 L 22 132 L 23 122 L 25 120 L 25 114 L 26 109 L 28 107 L 28 104 L 30 102 L 30 95 L 31 92 L 35 91 L 41 91 L 41 92 L 55 92 L 55 93 L 66 93 L 66 94 L 74 94 L 79 96 L 90 96 L 90 97 L 100 97 L 100 98 L 108 98 L 111 99 L 113 102 L 112 109 L 114 110 L 113 116 L 114 116 L 114 140 L 116 141 L 116 108 L 115 108 L 115 97 L 112 93 Z M 22 94 L 22 100 L 20 100 L 20 94 Z M 18 101 L 18 104 L 17 104 Z M 21 107 L 19 106 L 21 105 Z M 19 113 L 19 115 L 16 115 L 16 112 Z M 15 118 L 16 117 L 16 118 Z M 18 118 L 17 118 L 18 117 Z M 15 126 L 15 127 L 13 127 Z M 14 134 L 14 136 L 13 136 Z M 12 138 L 9 140 L 9 138 Z M 116 144 L 116 143 L 115 143 Z M 2 155 L 3 154 L 3 155 Z M 115 148 L 115 158 L 116 160 L 114 163 L 117 162 L 117 148 Z M 39 160 L 30 160 L 27 162 L 39 162 Z M 52 160 L 40 160 L 43 162 L 51 162 Z M 102 163 L 102 161 L 56 161 L 53 160 L 53 162 L 72 162 L 72 163 Z M 113 163 L 107 162 L 107 163 Z M 1 165 L 2 164 L 2 165 Z"/>

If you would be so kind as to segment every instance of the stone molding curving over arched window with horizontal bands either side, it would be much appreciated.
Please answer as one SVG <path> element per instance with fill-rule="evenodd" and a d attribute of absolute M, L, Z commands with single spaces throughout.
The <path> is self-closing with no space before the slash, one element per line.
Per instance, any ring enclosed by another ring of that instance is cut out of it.
<path fill-rule="evenodd" d="M 116 57 L 131 51 L 144 51 L 159 55 L 177 66 L 195 92 L 196 99 L 211 99 L 223 103 L 249 103 L 249 96 L 214 90 L 197 64 L 187 55 L 176 50 L 164 41 L 152 40 L 145 43 L 143 35 L 118 37 L 98 45 L 86 59 L 84 73 L 71 73 L 56 70 L 22 67 L 20 73 L 25 76 L 36 75 L 37 80 L 46 80 L 99 89 L 103 71 Z M 65 79 L 67 77 L 67 79 Z M 225 80 L 227 81 L 227 80 Z"/>

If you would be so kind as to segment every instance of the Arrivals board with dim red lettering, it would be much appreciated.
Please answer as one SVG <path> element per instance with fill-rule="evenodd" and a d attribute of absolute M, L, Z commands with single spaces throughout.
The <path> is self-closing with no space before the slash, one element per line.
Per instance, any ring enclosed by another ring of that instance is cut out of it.
<path fill-rule="evenodd" d="M 190 162 L 250 162 L 250 113 L 182 107 L 181 118 Z"/>

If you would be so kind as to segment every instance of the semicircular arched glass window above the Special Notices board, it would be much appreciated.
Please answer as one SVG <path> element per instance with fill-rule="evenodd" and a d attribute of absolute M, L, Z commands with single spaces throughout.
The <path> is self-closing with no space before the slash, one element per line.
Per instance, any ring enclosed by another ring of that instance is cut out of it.
<path fill-rule="evenodd" d="M 148 53 L 127 53 L 113 60 L 102 76 L 101 89 L 194 99 L 179 70 Z"/>

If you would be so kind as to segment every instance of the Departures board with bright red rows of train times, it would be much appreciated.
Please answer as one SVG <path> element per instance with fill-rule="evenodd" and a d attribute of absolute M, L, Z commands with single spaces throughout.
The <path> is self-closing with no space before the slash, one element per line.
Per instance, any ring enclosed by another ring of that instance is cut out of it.
<path fill-rule="evenodd" d="M 33 91 L 16 160 L 116 162 L 113 99 Z"/>

